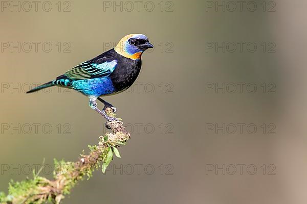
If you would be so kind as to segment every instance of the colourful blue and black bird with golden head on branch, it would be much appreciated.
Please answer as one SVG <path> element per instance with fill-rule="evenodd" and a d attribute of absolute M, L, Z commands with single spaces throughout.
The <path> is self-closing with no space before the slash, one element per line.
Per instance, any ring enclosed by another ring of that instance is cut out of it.
<path fill-rule="evenodd" d="M 51 86 L 70 88 L 87 96 L 90 107 L 107 121 L 116 121 L 115 117 L 105 113 L 106 108 L 111 108 L 113 112 L 116 112 L 116 108 L 101 96 L 121 93 L 133 85 L 142 67 L 142 54 L 149 48 L 153 48 L 153 44 L 146 35 L 126 35 L 114 48 L 82 62 L 55 80 L 35 87 L 27 93 Z M 97 99 L 104 104 L 102 110 L 98 109 Z"/>

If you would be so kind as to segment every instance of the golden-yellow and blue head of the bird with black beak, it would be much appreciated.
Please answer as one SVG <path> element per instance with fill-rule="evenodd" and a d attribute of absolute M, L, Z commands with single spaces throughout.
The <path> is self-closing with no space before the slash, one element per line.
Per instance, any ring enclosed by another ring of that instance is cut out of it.
<path fill-rule="evenodd" d="M 143 34 L 130 34 L 123 37 L 114 48 L 118 54 L 138 60 L 146 49 L 153 48 L 148 38 Z"/>

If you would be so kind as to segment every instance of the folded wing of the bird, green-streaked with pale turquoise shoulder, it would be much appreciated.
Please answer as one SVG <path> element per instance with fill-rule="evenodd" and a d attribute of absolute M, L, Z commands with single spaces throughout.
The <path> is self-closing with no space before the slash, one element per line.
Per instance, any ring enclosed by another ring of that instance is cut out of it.
<path fill-rule="evenodd" d="M 72 80 L 85 80 L 97 77 L 107 77 L 116 68 L 117 60 L 96 64 L 92 62 L 83 62 L 64 73 L 65 77 Z"/>

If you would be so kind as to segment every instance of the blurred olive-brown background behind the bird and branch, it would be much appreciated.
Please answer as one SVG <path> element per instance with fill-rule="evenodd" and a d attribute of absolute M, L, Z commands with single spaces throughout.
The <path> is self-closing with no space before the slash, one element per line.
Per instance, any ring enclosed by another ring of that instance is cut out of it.
<path fill-rule="evenodd" d="M 25 92 L 143 33 L 139 84 L 105 98 L 131 140 L 63 203 L 305 203 L 307 3 L 132 3 L 1 2 L 0 190 L 106 131 L 77 92 Z"/>

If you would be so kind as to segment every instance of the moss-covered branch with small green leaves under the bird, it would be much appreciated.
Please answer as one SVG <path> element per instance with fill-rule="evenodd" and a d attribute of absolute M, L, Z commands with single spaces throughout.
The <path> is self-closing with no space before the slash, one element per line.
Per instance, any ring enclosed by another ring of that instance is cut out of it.
<path fill-rule="evenodd" d="M 113 116 L 111 109 L 106 110 L 107 115 Z M 104 172 L 112 161 L 113 153 L 120 157 L 117 147 L 130 138 L 121 121 L 107 122 L 112 132 L 99 137 L 98 145 L 89 146 L 90 154 L 81 154 L 76 162 L 55 161 L 54 180 L 39 176 L 33 172 L 33 179 L 21 182 L 11 182 L 9 193 L 0 192 L 0 203 L 60 203 L 65 195 L 86 176 L 90 178 L 92 172 L 99 167 Z"/>

